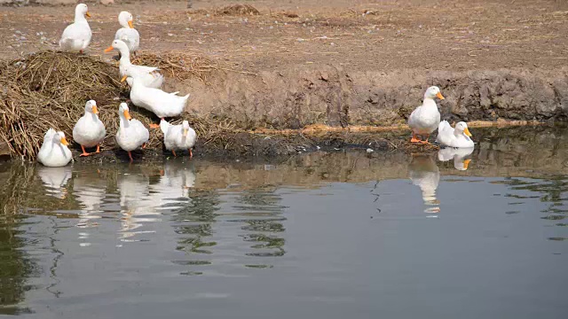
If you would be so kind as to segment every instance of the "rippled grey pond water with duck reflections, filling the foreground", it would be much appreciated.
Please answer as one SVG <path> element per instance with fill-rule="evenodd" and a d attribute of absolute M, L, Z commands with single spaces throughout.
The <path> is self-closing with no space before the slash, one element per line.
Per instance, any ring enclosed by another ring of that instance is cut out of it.
<path fill-rule="evenodd" d="M 479 141 L 470 153 L 4 163 L 0 315 L 565 318 L 568 131 Z"/>

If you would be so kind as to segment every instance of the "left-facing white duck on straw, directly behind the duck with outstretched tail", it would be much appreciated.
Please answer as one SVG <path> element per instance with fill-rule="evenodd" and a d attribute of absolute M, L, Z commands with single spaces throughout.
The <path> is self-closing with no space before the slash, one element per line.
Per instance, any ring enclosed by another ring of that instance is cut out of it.
<path fill-rule="evenodd" d="M 118 72 L 122 78 L 126 76 L 126 70 L 129 70 L 130 77 L 140 77 L 144 86 L 148 88 L 160 89 L 162 88 L 163 75 L 157 71 L 159 68 L 154 66 L 137 66 L 130 62 L 130 51 L 128 45 L 121 40 L 114 40 L 113 44 L 106 48 L 105 52 L 113 51 L 114 49 L 121 52 L 121 59 L 119 61 Z M 132 82 L 128 84 L 132 86 Z"/>

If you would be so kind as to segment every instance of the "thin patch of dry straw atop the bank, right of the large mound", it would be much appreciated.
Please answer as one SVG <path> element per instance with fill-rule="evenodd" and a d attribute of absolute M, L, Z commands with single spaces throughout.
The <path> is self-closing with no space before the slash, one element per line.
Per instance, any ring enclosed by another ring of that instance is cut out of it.
<path fill-rule="evenodd" d="M 177 80 L 196 77 L 203 82 L 207 82 L 211 72 L 227 69 L 217 60 L 201 54 L 179 51 L 168 51 L 160 54 L 142 51 L 132 60 L 132 63 L 142 66 L 157 66 L 162 70 L 162 74 Z"/>

